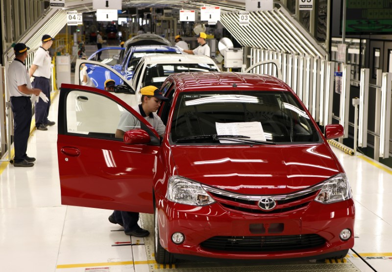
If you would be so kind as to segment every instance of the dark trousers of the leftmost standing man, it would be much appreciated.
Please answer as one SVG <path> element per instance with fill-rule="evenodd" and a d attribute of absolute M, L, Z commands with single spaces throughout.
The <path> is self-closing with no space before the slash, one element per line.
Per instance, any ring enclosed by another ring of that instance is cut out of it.
<path fill-rule="evenodd" d="M 26 159 L 27 141 L 31 125 L 31 100 L 29 96 L 11 96 L 11 109 L 14 115 L 14 162 Z"/>

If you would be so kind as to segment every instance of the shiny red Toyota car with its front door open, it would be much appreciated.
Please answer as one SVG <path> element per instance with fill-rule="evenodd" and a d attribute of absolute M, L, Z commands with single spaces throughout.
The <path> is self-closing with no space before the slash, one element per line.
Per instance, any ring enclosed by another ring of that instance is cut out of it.
<path fill-rule="evenodd" d="M 154 213 L 155 259 L 321 259 L 354 245 L 342 165 L 283 81 L 268 75 L 170 75 L 160 139 L 113 94 L 62 85 L 62 204 Z M 115 138 L 121 113 L 140 126 Z"/>

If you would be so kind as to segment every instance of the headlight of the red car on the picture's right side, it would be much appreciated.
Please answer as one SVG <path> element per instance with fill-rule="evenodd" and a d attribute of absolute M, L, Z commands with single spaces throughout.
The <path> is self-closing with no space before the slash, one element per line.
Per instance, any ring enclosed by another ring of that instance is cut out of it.
<path fill-rule="evenodd" d="M 324 182 L 316 201 L 324 204 L 350 199 L 351 188 L 345 174 L 338 174 Z"/>

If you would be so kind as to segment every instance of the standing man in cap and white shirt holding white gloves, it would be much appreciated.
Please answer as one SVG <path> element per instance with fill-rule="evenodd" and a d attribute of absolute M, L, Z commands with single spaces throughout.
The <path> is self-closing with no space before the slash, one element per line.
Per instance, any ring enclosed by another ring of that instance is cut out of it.
<path fill-rule="evenodd" d="M 30 78 L 32 77 L 32 87 L 42 90 L 49 99 L 48 103 L 42 99 L 35 103 L 35 126 L 38 130 L 48 130 L 47 126 L 56 124 L 48 119 L 51 75 L 51 57 L 48 50 L 53 41 L 54 39 L 47 34 L 42 36 L 42 45 L 35 52 L 33 64 L 28 71 Z"/>

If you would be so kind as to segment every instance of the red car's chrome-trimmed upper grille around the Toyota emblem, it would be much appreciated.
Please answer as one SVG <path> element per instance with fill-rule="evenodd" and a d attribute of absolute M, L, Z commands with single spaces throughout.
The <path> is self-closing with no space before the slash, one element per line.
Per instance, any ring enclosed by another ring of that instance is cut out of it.
<path fill-rule="evenodd" d="M 271 210 L 263 210 L 258 203 L 264 196 L 245 196 L 212 187 L 204 187 L 214 200 L 226 210 L 252 214 L 276 214 L 304 208 L 316 198 L 320 189 L 320 185 L 317 185 L 289 195 L 270 196 L 275 200 L 276 206 Z"/>

